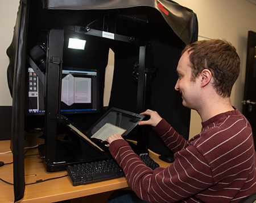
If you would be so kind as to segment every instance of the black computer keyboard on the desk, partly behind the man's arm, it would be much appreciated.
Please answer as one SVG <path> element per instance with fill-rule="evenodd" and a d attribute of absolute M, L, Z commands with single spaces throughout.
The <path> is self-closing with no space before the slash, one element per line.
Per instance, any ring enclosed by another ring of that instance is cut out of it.
<path fill-rule="evenodd" d="M 147 154 L 139 156 L 147 167 L 152 169 L 159 167 L 159 164 L 152 160 Z M 69 165 L 67 171 L 73 186 L 125 176 L 122 168 L 119 167 L 114 159 Z"/>

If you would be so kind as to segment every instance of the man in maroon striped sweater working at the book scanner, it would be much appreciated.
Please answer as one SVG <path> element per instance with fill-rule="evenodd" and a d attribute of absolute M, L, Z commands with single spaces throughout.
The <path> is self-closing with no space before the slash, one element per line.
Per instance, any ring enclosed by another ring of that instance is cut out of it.
<path fill-rule="evenodd" d="M 130 187 L 147 202 L 240 202 L 256 192 L 256 154 L 251 126 L 230 103 L 240 72 L 236 48 L 223 40 L 203 40 L 181 53 L 175 89 L 183 105 L 202 120 L 199 135 L 187 141 L 158 113 L 139 125 L 151 125 L 175 152 L 167 168 L 147 168 L 120 135 L 106 139 Z"/>

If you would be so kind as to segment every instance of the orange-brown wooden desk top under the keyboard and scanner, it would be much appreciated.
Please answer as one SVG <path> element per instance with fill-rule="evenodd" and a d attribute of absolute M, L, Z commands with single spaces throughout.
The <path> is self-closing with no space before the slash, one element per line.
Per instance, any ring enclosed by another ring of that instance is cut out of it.
<path fill-rule="evenodd" d="M 42 144 L 43 139 L 38 139 L 40 134 L 26 134 L 25 147 L 36 146 Z M 10 140 L 0 141 L 0 153 L 10 151 Z M 38 148 L 32 149 L 26 155 L 38 155 Z M 160 160 L 158 155 L 150 151 L 150 156 L 154 159 L 160 167 L 167 167 L 169 164 Z M 13 161 L 13 154 L 0 154 L 0 161 L 4 163 L 10 163 Z M 25 182 L 34 183 L 36 180 L 46 180 L 53 177 L 60 177 L 67 175 L 66 171 L 59 172 L 47 172 L 41 159 L 29 158 L 24 160 L 25 164 Z M 13 164 L 3 165 L 0 168 L 0 178 L 13 183 Z M 14 193 L 13 185 L 9 185 L 0 181 L 0 197 L 2 202 L 13 202 Z M 69 177 L 62 177 L 60 179 L 49 180 L 46 182 L 26 185 L 24 198 L 20 202 L 56 202 L 69 200 L 73 198 L 79 198 L 89 196 L 92 194 L 98 194 L 103 192 L 109 192 L 112 190 L 129 188 L 129 184 L 125 177 L 119 177 L 117 179 L 100 181 L 98 183 L 92 183 L 88 185 L 79 185 L 73 187 Z"/>

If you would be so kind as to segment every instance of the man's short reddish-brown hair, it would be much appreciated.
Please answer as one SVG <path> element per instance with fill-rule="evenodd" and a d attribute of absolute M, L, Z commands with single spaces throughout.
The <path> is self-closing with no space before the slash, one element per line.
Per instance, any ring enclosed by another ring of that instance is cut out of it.
<path fill-rule="evenodd" d="M 234 82 L 240 73 L 240 57 L 236 48 L 225 40 L 201 40 L 187 45 L 181 55 L 188 51 L 192 80 L 208 69 L 213 76 L 217 94 L 230 97 Z"/>

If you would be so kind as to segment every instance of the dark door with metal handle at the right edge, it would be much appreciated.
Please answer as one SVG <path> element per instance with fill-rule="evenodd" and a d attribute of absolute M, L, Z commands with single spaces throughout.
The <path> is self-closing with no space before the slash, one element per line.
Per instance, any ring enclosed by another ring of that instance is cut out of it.
<path fill-rule="evenodd" d="M 243 115 L 253 128 L 254 143 L 256 143 L 256 32 L 253 31 L 248 32 L 245 93 L 242 103 Z"/>

